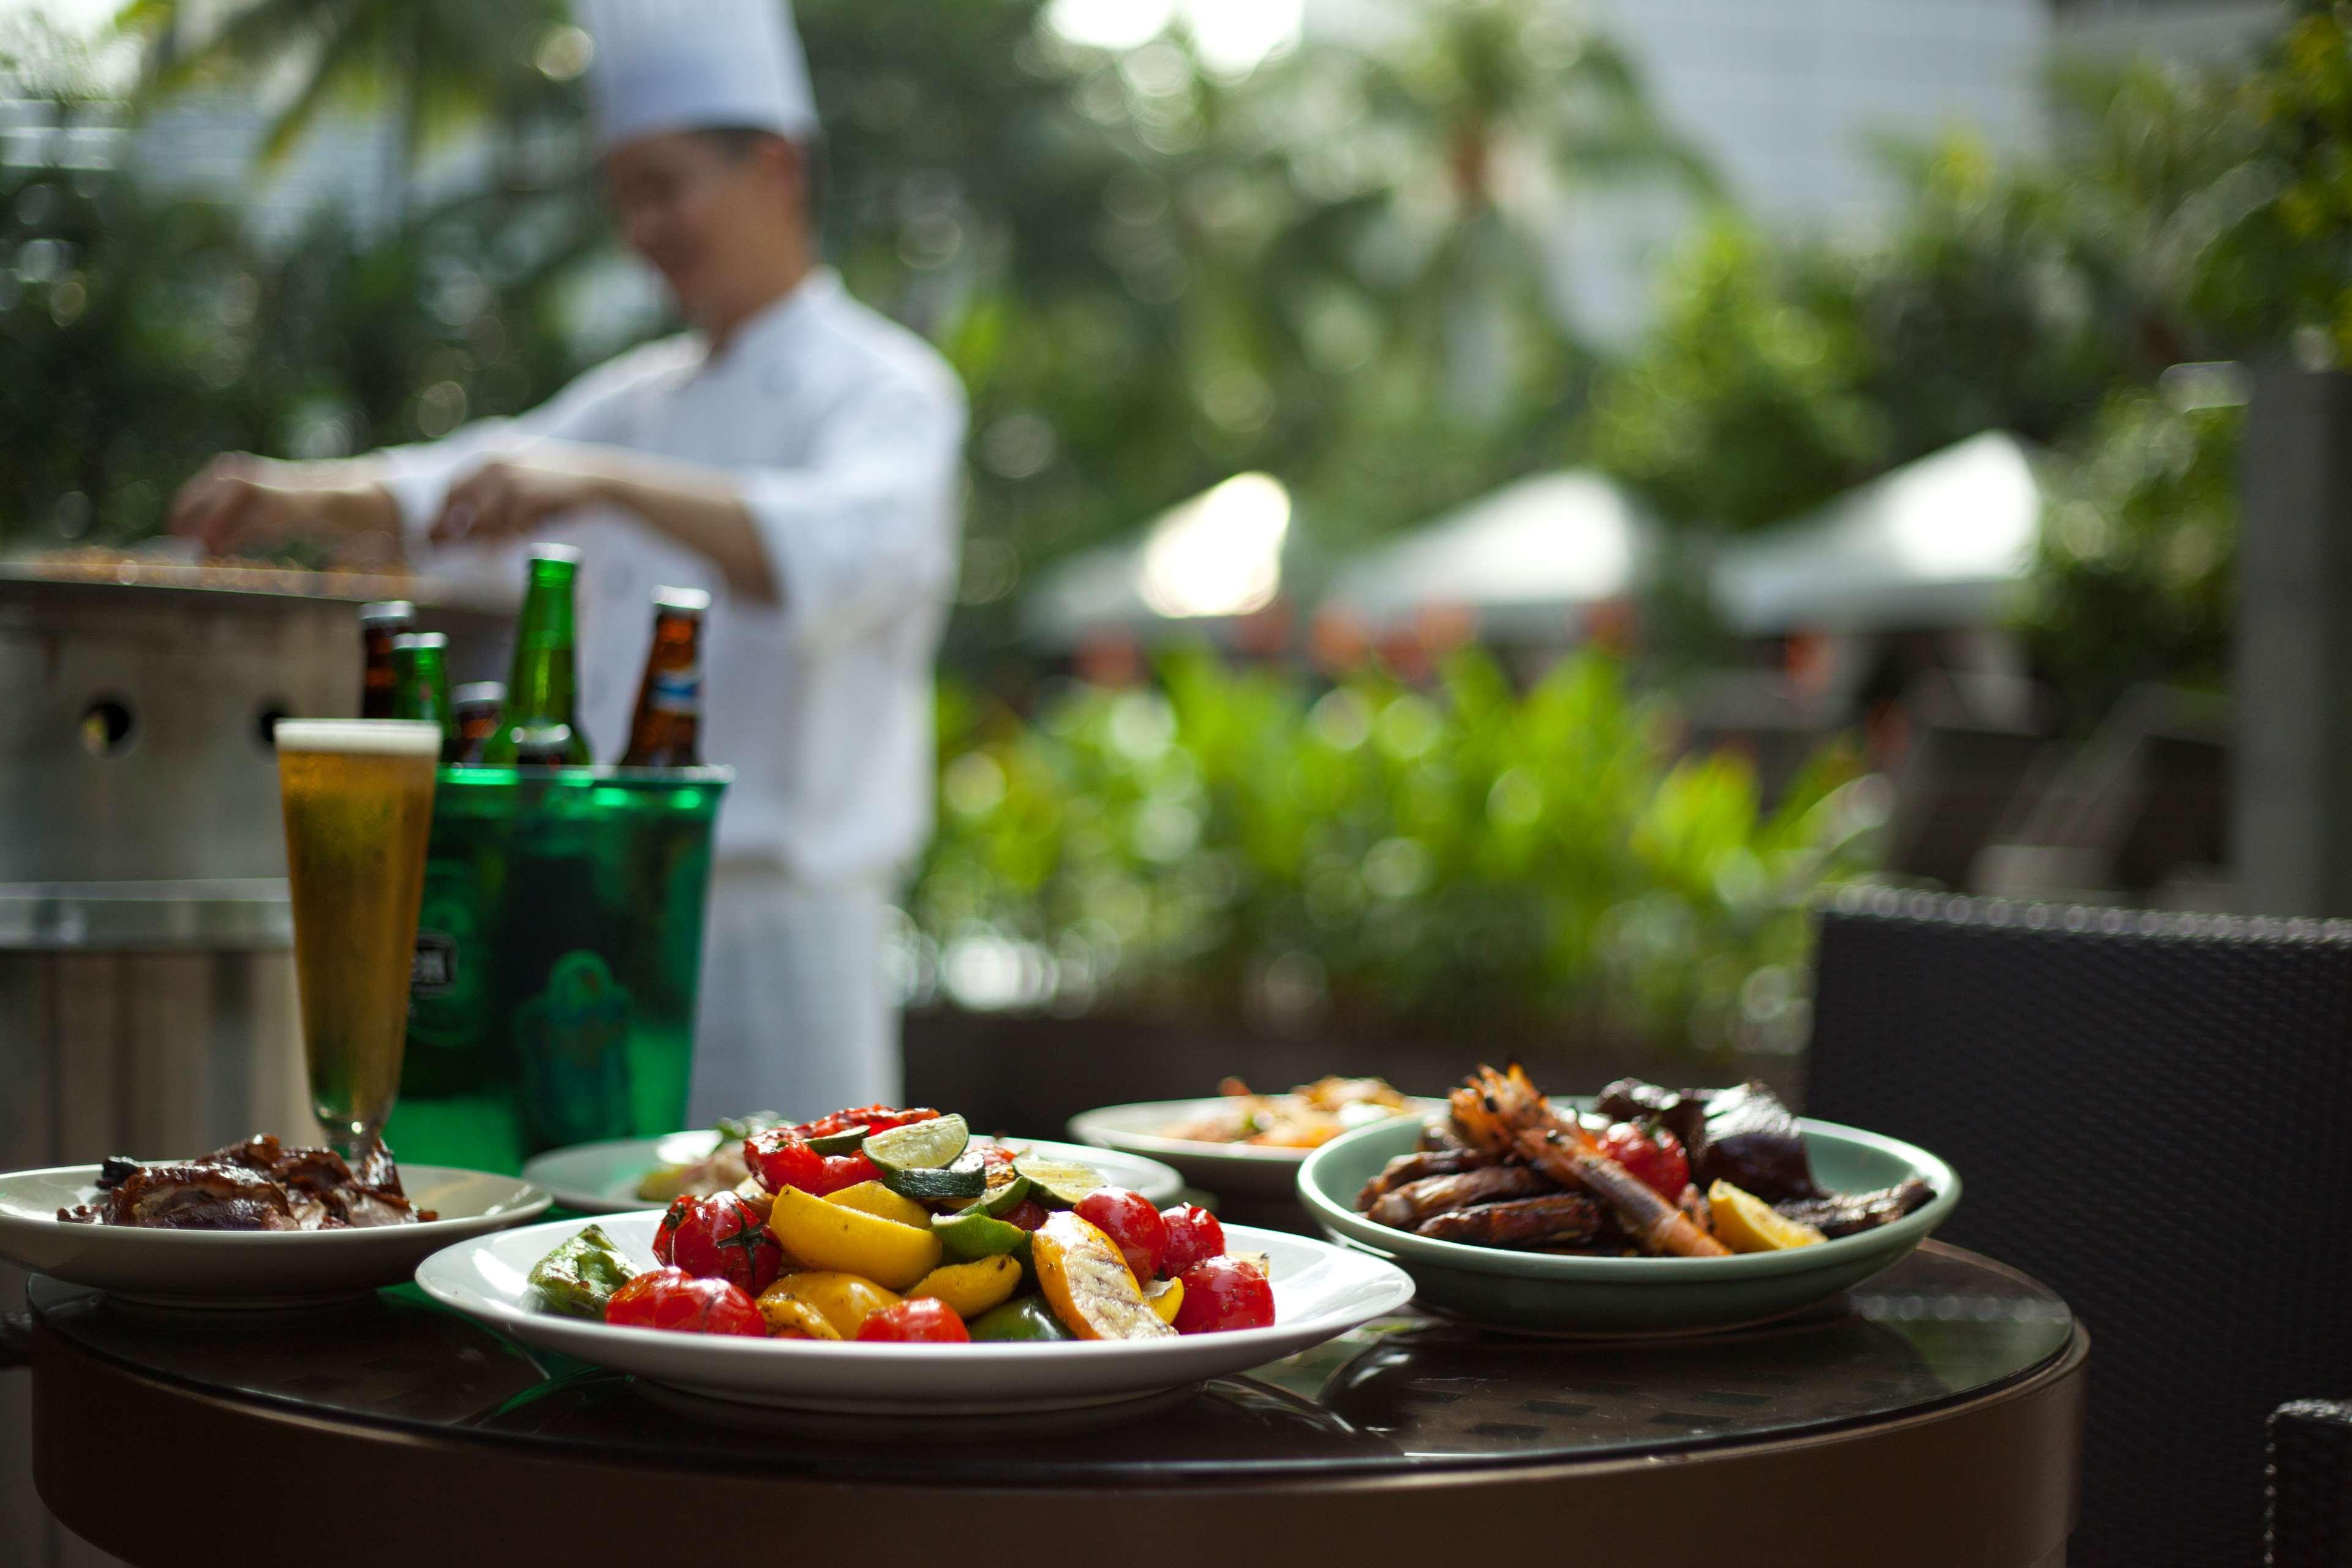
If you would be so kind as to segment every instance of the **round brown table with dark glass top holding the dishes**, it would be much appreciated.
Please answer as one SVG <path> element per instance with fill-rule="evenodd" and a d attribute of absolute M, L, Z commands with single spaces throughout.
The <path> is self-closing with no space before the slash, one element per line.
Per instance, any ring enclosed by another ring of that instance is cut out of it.
<path fill-rule="evenodd" d="M 1764 1328 L 1399 1316 L 1117 1425 L 713 1420 L 414 1291 L 31 1302 L 40 1495 L 132 1563 L 2056 1568 L 2089 1352 L 2051 1291 L 1936 1244 Z"/>

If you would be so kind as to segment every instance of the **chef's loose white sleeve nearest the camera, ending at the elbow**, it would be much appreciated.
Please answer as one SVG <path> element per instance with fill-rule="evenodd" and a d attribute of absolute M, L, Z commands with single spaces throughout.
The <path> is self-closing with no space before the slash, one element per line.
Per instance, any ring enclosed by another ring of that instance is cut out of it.
<path fill-rule="evenodd" d="M 786 637 L 837 646 L 948 599 L 964 421 L 953 383 L 891 378 L 826 421 L 809 463 L 739 470 Z"/>

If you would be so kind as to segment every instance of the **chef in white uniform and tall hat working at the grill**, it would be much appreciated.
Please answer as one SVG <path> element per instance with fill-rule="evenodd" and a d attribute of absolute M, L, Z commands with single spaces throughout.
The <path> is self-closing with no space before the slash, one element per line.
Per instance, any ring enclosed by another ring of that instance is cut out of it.
<path fill-rule="evenodd" d="M 579 712 L 602 757 L 628 736 L 654 588 L 708 588 L 703 755 L 736 783 L 694 1117 L 896 1100 L 882 943 L 929 832 L 962 388 L 818 263 L 816 101 L 783 0 L 583 0 L 583 21 L 604 188 L 691 331 L 442 442 L 214 458 L 172 524 L 216 552 L 381 531 L 508 592 L 529 541 L 579 545 Z"/>

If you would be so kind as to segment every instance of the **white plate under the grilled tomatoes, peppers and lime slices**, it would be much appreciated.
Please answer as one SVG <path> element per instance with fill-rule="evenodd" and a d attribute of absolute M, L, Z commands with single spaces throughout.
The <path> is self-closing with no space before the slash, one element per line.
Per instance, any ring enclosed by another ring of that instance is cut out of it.
<path fill-rule="evenodd" d="M 597 1220 L 635 1262 L 654 1267 L 661 1215 Z M 858 1345 L 607 1328 L 541 1312 L 527 1274 L 588 1220 L 553 1220 L 461 1241 L 416 1269 L 435 1300 L 524 1345 L 557 1349 L 670 1389 L 734 1406 L 856 1415 L 1011 1415 L 1075 1410 L 1242 1373 L 1395 1312 L 1414 1281 L 1390 1262 L 1329 1241 L 1228 1225 L 1235 1251 L 1270 1260 L 1275 1326 L 1176 1340 L 1051 1345 Z"/>

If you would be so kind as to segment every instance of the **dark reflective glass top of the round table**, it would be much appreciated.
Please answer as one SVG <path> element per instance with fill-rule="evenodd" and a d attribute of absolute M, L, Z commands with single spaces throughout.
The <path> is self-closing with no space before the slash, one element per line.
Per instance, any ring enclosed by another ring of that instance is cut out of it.
<path fill-rule="evenodd" d="M 103 1361 L 310 1418 L 548 1458 L 936 1486 L 1618 1460 L 1820 1434 L 1983 1396 L 2074 1331 L 2044 1286 L 1929 1244 L 1842 1302 L 1738 1333 L 1536 1340 L 1395 1316 L 1148 1406 L 920 1422 L 687 1401 L 524 1349 L 414 1288 L 310 1312 L 165 1312 L 35 1279 L 31 1300 Z"/>

